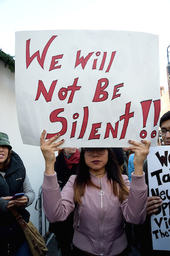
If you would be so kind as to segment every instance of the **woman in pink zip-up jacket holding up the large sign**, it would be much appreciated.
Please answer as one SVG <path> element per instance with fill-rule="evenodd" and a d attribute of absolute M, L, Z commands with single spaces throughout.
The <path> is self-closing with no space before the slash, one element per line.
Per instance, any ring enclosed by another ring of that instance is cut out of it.
<path fill-rule="evenodd" d="M 143 162 L 150 142 L 129 141 L 128 150 L 135 153 L 131 183 L 128 176 L 121 174 L 112 149 L 82 148 L 78 173 L 70 177 L 60 192 L 54 172 L 54 152 L 64 140 L 54 142 L 59 135 L 48 141 L 44 137 L 45 131 L 41 135 L 45 158 L 42 196 L 47 219 L 51 223 L 63 221 L 74 211 L 75 256 L 128 255 L 124 220 L 133 224 L 145 221 L 147 186 Z"/>

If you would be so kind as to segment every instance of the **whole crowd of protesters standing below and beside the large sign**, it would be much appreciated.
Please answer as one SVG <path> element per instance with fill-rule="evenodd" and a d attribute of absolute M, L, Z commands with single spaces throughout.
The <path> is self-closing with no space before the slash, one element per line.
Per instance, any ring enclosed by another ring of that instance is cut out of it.
<path fill-rule="evenodd" d="M 160 119 L 162 140 L 170 145 L 170 111 Z M 148 196 L 147 154 L 150 141 L 129 140 L 128 148 L 62 148 L 59 134 L 45 140 L 42 184 L 43 209 L 49 230 L 56 236 L 62 256 L 129 255 L 131 245 L 143 255 L 169 255 L 155 251 L 151 216 L 162 205 Z M 56 157 L 57 152 L 57 157 Z M 22 160 L 0 132 L 0 255 L 31 255 L 22 228 L 10 208 L 25 209 L 35 199 Z M 24 192 L 20 198 L 12 195 Z M 170 249 L 170 248 L 169 248 Z"/>

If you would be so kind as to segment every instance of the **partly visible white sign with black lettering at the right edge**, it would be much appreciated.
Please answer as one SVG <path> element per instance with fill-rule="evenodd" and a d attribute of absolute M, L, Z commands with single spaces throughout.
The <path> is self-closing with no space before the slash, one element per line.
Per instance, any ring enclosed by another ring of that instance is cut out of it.
<path fill-rule="evenodd" d="M 163 200 L 151 216 L 153 249 L 170 251 L 170 146 L 150 148 L 147 165 L 150 196 L 160 196 Z"/>

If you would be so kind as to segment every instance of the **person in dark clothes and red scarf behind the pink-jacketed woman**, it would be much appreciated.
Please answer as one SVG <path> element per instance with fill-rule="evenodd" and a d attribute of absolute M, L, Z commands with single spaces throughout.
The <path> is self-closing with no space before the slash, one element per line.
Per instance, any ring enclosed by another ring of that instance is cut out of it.
<path fill-rule="evenodd" d="M 59 150 L 54 170 L 57 173 L 60 189 L 65 186 L 71 175 L 76 174 L 76 167 L 80 158 L 80 152 L 77 148 L 63 148 Z M 62 256 L 72 254 L 73 242 L 73 216 L 71 212 L 65 221 L 50 223 L 49 230 L 54 233 L 58 243 L 58 250 L 61 249 Z"/>

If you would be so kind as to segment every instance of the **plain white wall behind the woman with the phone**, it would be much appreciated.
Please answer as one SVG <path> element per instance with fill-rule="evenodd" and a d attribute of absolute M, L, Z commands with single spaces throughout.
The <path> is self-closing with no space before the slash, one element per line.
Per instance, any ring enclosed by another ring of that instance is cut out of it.
<path fill-rule="evenodd" d="M 32 188 L 35 191 L 35 201 L 27 209 L 31 221 L 38 228 L 38 211 L 35 209 L 39 188 L 42 184 L 45 161 L 39 146 L 24 145 L 20 136 L 16 104 L 15 104 L 15 74 L 0 60 L 0 132 L 7 133 L 12 150 L 19 154 Z M 42 219 L 44 220 L 44 218 Z M 42 232 L 44 234 L 44 232 Z"/>

